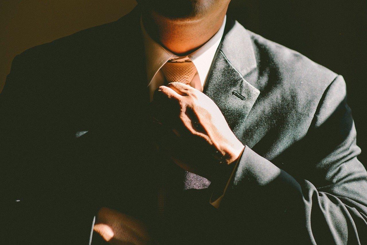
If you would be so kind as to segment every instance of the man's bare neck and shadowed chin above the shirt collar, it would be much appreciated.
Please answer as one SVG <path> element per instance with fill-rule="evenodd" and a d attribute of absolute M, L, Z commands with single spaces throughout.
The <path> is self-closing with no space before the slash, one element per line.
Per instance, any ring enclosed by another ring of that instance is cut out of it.
<path fill-rule="evenodd" d="M 172 53 L 200 48 L 221 27 L 230 0 L 145 0 L 143 24 L 148 34 Z"/>

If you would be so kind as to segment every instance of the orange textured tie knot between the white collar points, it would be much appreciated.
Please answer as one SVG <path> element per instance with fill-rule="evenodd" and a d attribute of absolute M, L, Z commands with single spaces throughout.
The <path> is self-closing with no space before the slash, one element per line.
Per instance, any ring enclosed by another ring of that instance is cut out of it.
<path fill-rule="evenodd" d="M 161 69 L 168 83 L 180 82 L 189 84 L 196 73 L 196 67 L 191 61 L 166 62 Z"/>

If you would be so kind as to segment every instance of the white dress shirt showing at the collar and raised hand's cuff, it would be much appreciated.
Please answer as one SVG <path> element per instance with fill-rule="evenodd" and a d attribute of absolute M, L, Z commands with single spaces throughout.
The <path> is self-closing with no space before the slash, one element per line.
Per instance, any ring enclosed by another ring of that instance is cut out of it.
<path fill-rule="evenodd" d="M 183 62 L 190 60 L 194 63 L 196 67 L 196 74 L 190 86 L 194 87 L 199 91 L 203 91 L 204 84 L 206 82 L 211 63 L 214 59 L 215 52 L 221 42 L 224 27 L 226 24 L 226 16 L 224 17 L 223 24 L 219 28 L 218 32 L 208 42 L 203 46 L 193 51 L 191 54 L 178 56 L 162 47 L 159 43 L 155 42 L 146 32 L 142 18 L 140 19 L 141 30 L 144 38 L 144 48 L 145 48 L 145 61 L 146 61 L 146 74 L 149 88 L 150 101 L 153 100 L 154 91 L 165 82 L 165 77 L 161 71 L 161 67 L 166 64 L 167 61 L 171 62 Z M 224 181 L 217 183 L 212 197 L 210 198 L 210 204 L 215 208 L 219 207 L 219 204 L 224 196 L 226 189 L 228 188 L 230 179 L 235 172 L 238 165 L 238 161 L 233 163 L 233 171 L 230 176 L 224 177 Z M 228 180 L 229 177 L 229 180 Z"/>

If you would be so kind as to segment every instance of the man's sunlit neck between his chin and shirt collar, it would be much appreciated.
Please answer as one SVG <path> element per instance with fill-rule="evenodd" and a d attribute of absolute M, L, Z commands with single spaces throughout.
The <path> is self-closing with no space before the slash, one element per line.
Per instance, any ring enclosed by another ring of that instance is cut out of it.
<path fill-rule="evenodd" d="M 155 12 L 143 13 L 142 17 L 146 32 L 152 39 L 182 56 L 200 48 L 218 32 L 226 10 L 200 19 L 170 19 Z"/>

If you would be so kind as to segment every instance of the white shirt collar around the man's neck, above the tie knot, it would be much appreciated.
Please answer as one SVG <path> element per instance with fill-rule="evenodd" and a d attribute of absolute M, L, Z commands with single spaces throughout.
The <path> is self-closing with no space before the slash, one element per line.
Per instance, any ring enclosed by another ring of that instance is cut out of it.
<path fill-rule="evenodd" d="M 206 81 L 212 60 L 214 58 L 215 52 L 221 42 L 224 27 L 226 23 L 226 16 L 224 17 L 223 24 L 221 28 L 219 28 L 218 32 L 208 40 L 203 46 L 194 51 L 193 53 L 180 57 L 173 54 L 171 51 L 162 47 L 160 44 L 155 42 L 146 32 L 142 18 L 140 21 L 141 30 L 144 38 L 144 47 L 145 47 L 145 58 L 146 58 L 146 74 L 148 79 L 148 86 L 152 83 L 152 80 L 155 78 L 157 72 L 159 72 L 160 68 L 168 61 L 168 60 L 176 60 L 181 58 L 189 58 L 195 65 L 197 74 L 200 78 L 200 83 L 204 87 L 204 83 Z"/>

